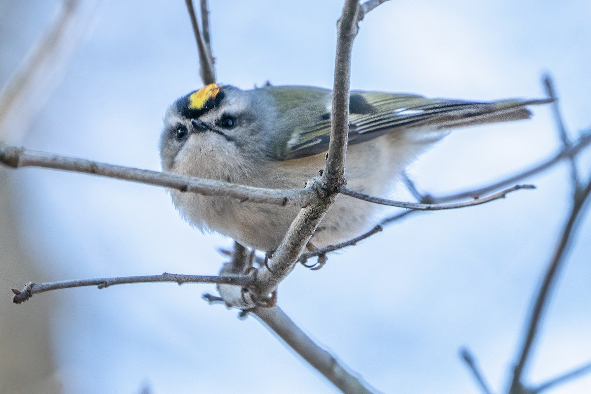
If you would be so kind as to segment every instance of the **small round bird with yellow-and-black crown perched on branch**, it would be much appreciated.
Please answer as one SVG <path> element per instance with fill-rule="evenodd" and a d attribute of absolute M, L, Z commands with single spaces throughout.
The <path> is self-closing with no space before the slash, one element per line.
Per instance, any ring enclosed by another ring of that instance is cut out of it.
<path fill-rule="evenodd" d="M 331 91 L 308 86 L 252 90 L 210 84 L 168 109 L 160 140 L 164 171 L 267 188 L 301 188 L 324 168 Z M 450 129 L 528 118 L 527 105 L 548 100 L 495 102 L 350 92 L 348 188 L 387 196 L 405 167 Z M 298 207 L 241 203 L 171 191 L 191 225 L 258 250 L 277 249 Z M 379 206 L 340 196 L 314 233 L 321 248 L 375 225 Z"/>

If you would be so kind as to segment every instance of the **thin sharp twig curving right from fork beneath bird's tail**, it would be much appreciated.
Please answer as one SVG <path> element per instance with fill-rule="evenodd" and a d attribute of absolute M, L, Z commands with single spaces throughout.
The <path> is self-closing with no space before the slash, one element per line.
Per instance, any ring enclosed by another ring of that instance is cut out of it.
<path fill-rule="evenodd" d="M 473 197 L 474 200 L 472 201 L 463 201 L 462 203 L 451 203 L 451 204 L 421 204 L 421 203 L 405 203 L 403 201 L 394 201 L 394 200 L 387 200 L 386 198 L 379 198 L 368 196 L 368 194 L 358 193 L 357 191 L 350 190 L 349 188 L 342 187 L 340 189 L 340 193 L 345 194 L 346 196 L 359 198 L 359 200 L 368 201 L 370 203 L 387 205 L 391 207 L 399 207 L 399 208 L 407 208 L 407 209 L 414 209 L 418 211 L 439 211 L 444 209 L 457 209 L 457 208 L 465 208 L 471 207 L 475 205 L 489 203 L 494 200 L 499 200 L 499 198 L 505 198 L 506 194 L 509 194 L 513 191 L 521 190 L 521 189 L 535 189 L 534 185 L 515 185 L 514 187 L 506 188 L 505 190 L 501 190 L 495 194 L 491 194 L 490 196 L 485 196 L 482 198 Z"/>

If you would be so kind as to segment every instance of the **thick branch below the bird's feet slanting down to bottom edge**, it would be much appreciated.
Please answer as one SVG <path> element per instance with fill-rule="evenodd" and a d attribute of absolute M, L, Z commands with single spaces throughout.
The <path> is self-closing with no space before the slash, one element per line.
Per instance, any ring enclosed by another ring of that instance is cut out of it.
<path fill-rule="evenodd" d="M 332 354 L 314 343 L 279 307 L 254 308 L 251 312 L 267 325 L 269 331 L 277 334 L 287 346 L 296 351 L 343 393 L 371 394 L 375 392 L 364 385 L 361 379 L 349 372 L 348 368 Z"/>

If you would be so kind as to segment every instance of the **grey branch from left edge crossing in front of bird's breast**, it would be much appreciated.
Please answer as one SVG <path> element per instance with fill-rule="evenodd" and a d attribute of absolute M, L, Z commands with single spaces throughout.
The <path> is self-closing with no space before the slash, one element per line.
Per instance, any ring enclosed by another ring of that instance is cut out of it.
<path fill-rule="evenodd" d="M 0 144 L 0 163 L 9 167 L 43 167 L 55 170 L 85 172 L 103 177 L 118 178 L 150 185 L 163 186 L 203 196 L 238 198 L 252 203 L 268 203 L 280 206 L 306 206 L 316 197 L 310 189 L 267 189 L 237 185 L 224 181 L 185 177 L 165 172 L 140 170 L 139 168 L 72 158 L 44 152 L 28 151 L 15 146 Z"/>

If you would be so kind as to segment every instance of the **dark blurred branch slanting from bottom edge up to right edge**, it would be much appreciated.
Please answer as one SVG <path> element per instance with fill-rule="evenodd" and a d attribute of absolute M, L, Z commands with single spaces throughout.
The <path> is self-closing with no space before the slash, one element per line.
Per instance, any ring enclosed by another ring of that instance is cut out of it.
<path fill-rule="evenodd" d="M 576 193 L 576 198 L 574 198 L 569 218 L 564 225 L 560 242 L 558 242 L 558 245 L 554 250 L 554 256 L 551 259 L 550 265 L 548 265 L 540 290 L 535 297 L 534 307 L 532 308 L 530 318 L 528 319 L 524 343 L 519 351 L 518 362 L 515 364 L 513 370 L 509 389 L 510 394 L 517 394 L 522 391 L 523 384 L 521 378 L 525 369 L 525 364 L 530 357 L 532 344 L 537 336 L 545 308 L 548 304 L 548 299 L 550 299 L 553 285 L 558 277 L 557 273 L 569 253 L 570 245 L 573 242 L 574 235 L 576 235 L 577 228 L 588 205 L 587 202 L 590 194 L 591 180 L 589 180 L 587 186 L 582 190 L 582 193 Z"/>

